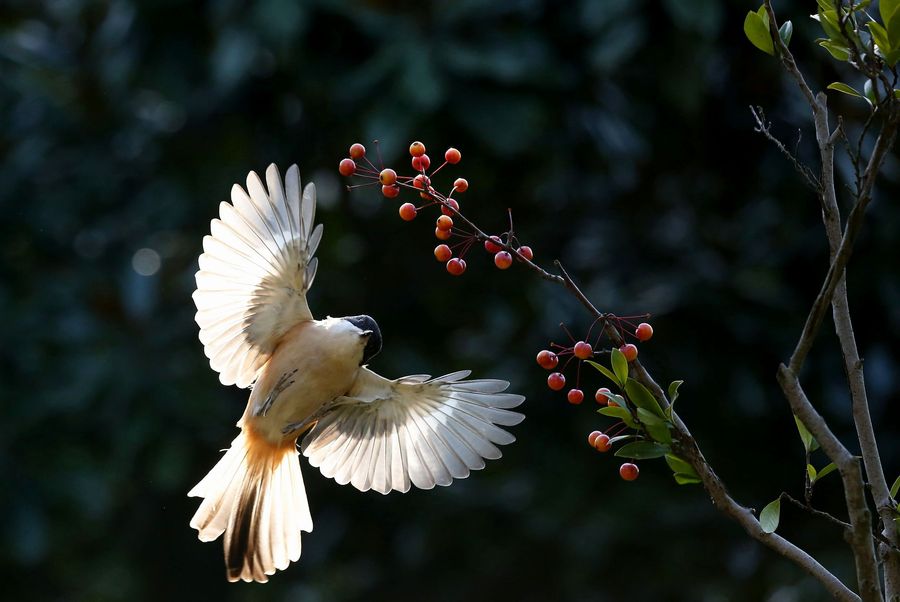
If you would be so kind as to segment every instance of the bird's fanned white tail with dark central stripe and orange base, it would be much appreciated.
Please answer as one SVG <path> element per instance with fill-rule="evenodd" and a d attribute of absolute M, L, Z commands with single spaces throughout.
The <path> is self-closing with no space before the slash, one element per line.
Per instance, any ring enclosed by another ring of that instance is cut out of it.
<path fill-rule="evenodd" d="M 201 541 L 225 534 L 229 581 L 268 581 L 300 558 L 300 532 L 312 531 L 295 441 L 273 445 L 249 429 L 189 496 L 203 502 L 191 519 Z"/>

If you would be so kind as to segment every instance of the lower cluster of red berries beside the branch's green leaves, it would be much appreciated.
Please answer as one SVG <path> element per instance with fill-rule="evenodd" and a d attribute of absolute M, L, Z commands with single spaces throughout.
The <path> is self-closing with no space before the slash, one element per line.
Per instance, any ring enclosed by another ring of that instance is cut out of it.
<path fill-rule="evenodd" d="M 606 315 L 602 319 L 613 322 L 623 339 L 626 333 L 633 333 L 634 338 L 641 342 L 648 341 L 653 336 L 653 327 L 650 326 L 650 324 L 648 324 L 647 322 L 641 322 L 637 326 L 634 326 L 634 324 L 630 322 L 629 318 L 619 318 L 617 316 Z M 623 325 L 633 327 L 634 330 L 626 331 Z M 572 338 L 571 335 L 569 335 L 569 337 L 570 339 Z M 588 334 L 585 338 L 589 337 L 590 330 L 588 330 Z M 550 387 L 550 389 L 552 389 L 553 391 L 561 391 L 566 387 L 566 376 L 565 374 L 563 374 L 563 372 L 565 371 L 565 368 L 568 366 L 569 362 L 571 362 L 573 359 L 578 362 L 575 387 L 569 389 L 566 393 L 566 399 L 573 405 L 579 405 L 584 401 L 584 391 L 579 388 L 579 381 L 581 378 L 581 364 L 585 361 L 593 360 L 595 355 L 601 353 L 599 351 L 595 351 L 595 347 L 597 346 L 597 344 L 599 344 L 599 342 L 600 341 L 598 337 L 598 340 L 595 341 L 594 345 L 591 345 L 591 343 L 585 340 L 576 341 L 574 342 L 574 344 L 567 347 L 551 344 L 551 346 L 554 347 L 556 351 L 543 349 L 537 354 L 536 360 L 538 365 L 545 370 L 553 371 L 547 377 L 547 386 Z M 628 362 L 633 362 L 638 355 L 637 346 L 633 343 L 625 343 L 621 345 L 619 347 L 619 351 Z M 564 357 L 566 358 L 566 360 L 562 368 L 557 369 L 559 366 L 560 357 Z M 594 393 L 594 400 L 604 407 L 618 406 L 622 402 L 622 398 L 618 395 L 615 395 L 607 387 L 598 388 Z M 614 442 L 620 439 L 627 438 L 616 437 L 616 435 L 626 427 L 627 425 L 624 422 L 620 421 L 613 425 L 613 427 L 606 433 L 602 431 L 593 431 L 590 435 L 588 435 L 588 443 L 591 447 L 599 452 L 607 452 L 612 449 L 612 445 Z M 619 476 L 621 476 L 622 479 L 626 481 L 633 481 L 637 479 L 638 473 L 638 467 L 633 462 L 625 462 L 624 464 L 622 464 L 622 466 L 619 467 Z"/>

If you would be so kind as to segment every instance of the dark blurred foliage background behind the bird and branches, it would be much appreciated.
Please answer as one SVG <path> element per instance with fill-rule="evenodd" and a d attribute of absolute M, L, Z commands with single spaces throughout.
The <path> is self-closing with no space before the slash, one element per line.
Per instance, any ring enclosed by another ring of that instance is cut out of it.
<path fill-rule="evenodd" d="M 815 3 L 779 2 L 816 89 L 844 77 Z M 661 461 L 634 483 L 586 443 L 605 428 L 545 385 L 534 356 L 587 314 L 473 249 L 434 261 L 429 219 L 348 193 L 360 141 L 455 146 L 467 214 L 559 258 L 595 304 L 645 312 L 641 360 L 684 379 L 679 412 L 742 503 L 802 495 L 775 382 L 827 267 L 815 196 L 753 132 L 815 161 L 807 107 L 742 34 L 747 2 L 7 0 L 0 9 L 0 577 L 9 600 L 821 600 Z M 864 103 L 835 94 L 851 129 Z M 799 142 L 798 142 L 799 139 Z M 841 160 L 845 160 L 842 155 Z M 527 395 L 518 441 L 449 488 L 383 497 L 304 462 L 315 530 L 264 586 L 225 581 L 187 491 L 235 435 L 246 391 L 209 368 L 193 321 L 201 239 L 233 182 L 297 162 L 325 224 L 310 305 L 368 313 L 389 377 L 471 368 Z M 842 167 L 847 173 L 847 166 Z M 441 180 L 445 178 L 446 181 Z M 888 159 L 850 269 L 850 302 L 889 479 L 900 472 L 896 203 Z M 403 200 L 403 196 L 399 201 Z M 830 323 L 803 374 L 849 447 Z M 582 375 L 589 392 L 599 379 Z M 590 399 L 590 395 L 589 395 Z M 819 452 L 821 453 L 821 452 Z M 824 465 L 824 456 L 814 463 Z M 844 517 L 837 477 L 816 503 Z M 829 524 L 787 508 L 788 537 L 843 578 Z"/>

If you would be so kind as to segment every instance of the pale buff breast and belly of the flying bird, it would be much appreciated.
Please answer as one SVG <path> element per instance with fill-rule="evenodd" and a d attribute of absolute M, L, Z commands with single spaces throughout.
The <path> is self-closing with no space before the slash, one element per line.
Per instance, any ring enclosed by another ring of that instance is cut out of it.
<path fill-rule="evenodd" d="M 272 443 L 296 437 L 285 427 L 301 424 L 350 389 L 364 345 L 358 334 L 329 328 L 327 321 L 298 324 L 263 368 L 238 425 L 250 426 Z"/>

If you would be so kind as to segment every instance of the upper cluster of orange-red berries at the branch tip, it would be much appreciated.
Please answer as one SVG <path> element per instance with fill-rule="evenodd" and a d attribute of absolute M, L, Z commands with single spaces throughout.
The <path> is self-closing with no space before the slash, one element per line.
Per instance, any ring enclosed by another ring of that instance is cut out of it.
<path fill-rule="evenodd" d="M 531 261 L 534 258 L 534 252 L 531 247 L 518 244 L 511 225 L 510 230 L 503 235 L 489 236 L 481 232 L 460 212 L 459 201 L 453 198 L 453 195 L 468 190 L 469 182 L 465 178 L 456 178 L 447 194 L 438 191 L 432 185 L 435 174 L 447 165 L 459 163 L 462 153 L 455 148 L 448 148 L 444 152 L 444 162 L 429 172 L 431 158 L 425 151 L 425 145 L 418 140 L 409 145 L 410 163 L 418 173 L 414 176 L 401 176 L 389 167 L 376 167 L 366 157 L 366 148 L 357 142 L 350 147 L 350 156 L 341 160 L 338 171 L 342 176 L 355 175 L 372 180 L 362 186 L 380 184 L 381 193 L 389 199 L 397 198 L 404 188 L 418 193 L 419 197 L 425 201 L 424 203 L 419 206 L 409 202 L 400 205 L 398 213 L 404 221 L 414 220 L 427 207 L 439 208 L 440 214 L 435 220 L 434 236 L 440 241 L 449 241 L 451 237 L 454 237 L 456 242 L 452 244 L 439 243 L 434 248 L 434 257 L 443 263 L 447 272 L 453 276 L 459 276 L 466 271 L 465 256 L 473 244 L 478 241 L 484 241 L 484 249 L 493 255 L 494 265 L 501 270 L 509 268 L 514 257 L 523 261 Z"/>

